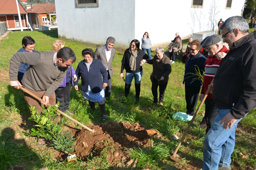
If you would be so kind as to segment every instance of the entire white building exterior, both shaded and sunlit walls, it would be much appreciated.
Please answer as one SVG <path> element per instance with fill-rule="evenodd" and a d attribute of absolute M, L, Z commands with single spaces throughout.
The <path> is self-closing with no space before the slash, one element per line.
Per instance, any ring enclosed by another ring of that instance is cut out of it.
<path fill-rule="evenodd" d="M 204 0 L 203 8 L 191 8 L 192 0 L 99 0 L 99 7 L 76 8 L 75 0 L 55 0 L 59 36 L 71 40 L 105 44 L 116 38 L 115 47 L 128 48 L 133 39 L 148 32 L 152 48 L 166 47 L 180 33 L 182 40 L 193 33 L 217 31 L 224 21 L 241 15 L 244 0 Z"/>

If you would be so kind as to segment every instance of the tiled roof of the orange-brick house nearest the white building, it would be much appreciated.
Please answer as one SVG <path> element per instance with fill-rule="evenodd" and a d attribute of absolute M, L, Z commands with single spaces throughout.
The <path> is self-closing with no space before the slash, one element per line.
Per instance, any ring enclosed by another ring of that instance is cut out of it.
<path fill-rule="evenodd" d="M 55 12 L 55 4 L 51 4 L 49 2 L 43 4 L 37 4 L 33 6 L 33 10 L 31 8 L 27 9 L 28 13 L 53 13 Z"/>

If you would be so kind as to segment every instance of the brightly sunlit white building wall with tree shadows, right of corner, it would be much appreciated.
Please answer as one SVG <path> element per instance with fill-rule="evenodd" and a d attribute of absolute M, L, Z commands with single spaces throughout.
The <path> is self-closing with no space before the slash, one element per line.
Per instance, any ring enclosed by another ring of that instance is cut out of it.
<path fill-rule="evenodd" d="M 148 32 L 152 47 L 167 46 L 175 33 L 188 39 L 193 33 L 217 31 L 220 18 L 241 15 L 243 0 L 233 0 L 231 9 L 225 9 L 227 0 L 204 0 L 203 8 L 191 8 L 192 0 L 158 0 L 135 2 L 135 39 Z"/>

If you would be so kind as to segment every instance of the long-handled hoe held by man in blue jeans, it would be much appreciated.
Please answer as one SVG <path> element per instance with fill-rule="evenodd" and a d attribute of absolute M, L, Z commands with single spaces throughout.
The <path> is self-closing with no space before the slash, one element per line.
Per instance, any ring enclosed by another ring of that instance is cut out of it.
<path fill-rule="evenodd" d="M 211 84 L 212 84 L 212 83 L 213 83 L 213 79 L 212 79 Z M 194 114 L 193 118 L 191 119 L 190 123 L 188 124 L 188 127 L 187 127 L 187 129 L 185 130 L 183 136 L 181 137 L 178 146 L 176 147 L 176 149 L 175 149 L 175 151 L 173 152 L 172 156 L 170 156 L 170 158 L 171 158 L 172 160 L 174 160 L 175 162 L 179 162 L 179 160 L 175 158 L 175 155 L 176 155 L 176 153 L 178 152 L 178 150 L 179 150 L 179 148 L 180 148 L 180 145 L 181 145 L 181 143 L 183 142 L 184 138 L 186 137 L 190 126 L 191 126 L 192 123 L 194 122 L 194 120 L 195 120 L 195 118 L 196 118 L 196 115 L 198 114 L 199 110 L 200 110 L 201 107 L 203 106 L 204 100 L 206 99 L 206 97 L 207 97 L 208 93 L 210 92 L 211 88 L 212 88 L 211 86 L 208 87 L 206 93 L 204 94 L 203 100 L 201 101 L 200 105 L 198 106 L 198 108 L 197 108 L 197 110 L 196 110 L 196 113 Z"/>

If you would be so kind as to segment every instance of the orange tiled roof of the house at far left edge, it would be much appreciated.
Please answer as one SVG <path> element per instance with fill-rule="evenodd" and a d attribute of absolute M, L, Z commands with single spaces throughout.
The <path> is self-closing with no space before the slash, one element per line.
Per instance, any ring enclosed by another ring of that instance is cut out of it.
<path fill-rule="evenodd" d="M 18 2 L 20 14 L 26 14 L 26 10 Z M 16 0 L 0 0 L 0 15 L 18 14 Z"/>

